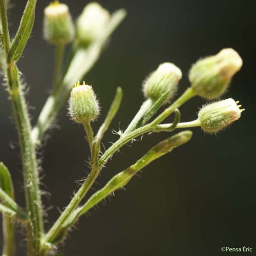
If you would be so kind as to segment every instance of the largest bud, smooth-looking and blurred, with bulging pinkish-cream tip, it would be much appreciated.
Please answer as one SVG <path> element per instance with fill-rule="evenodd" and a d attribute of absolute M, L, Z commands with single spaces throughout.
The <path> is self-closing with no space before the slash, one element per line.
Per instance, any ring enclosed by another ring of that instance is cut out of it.
<path fill-rule="evenodd" d="M 225 93 L 231 78 L 241 69 L 242 64 L 239 54 L 231 48 L 200 59 L 189 72 L 192 88 L 205 99 L 218 98 Z"/>

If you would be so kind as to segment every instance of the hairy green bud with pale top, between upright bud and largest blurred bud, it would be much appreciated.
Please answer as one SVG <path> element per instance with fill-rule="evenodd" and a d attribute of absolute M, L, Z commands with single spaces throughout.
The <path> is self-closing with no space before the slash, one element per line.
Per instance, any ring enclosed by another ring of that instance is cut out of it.
<path fill-rule="evenodd" d="M 151 98 L 156 101 L 163 93 L 169 90 L 169 95 L 165 100 L 165 103 L 167 103 L 176 93 L 181 77 L 181 70 L 173 63 L 162 63 L 143 84 L 145 98 Z"/>

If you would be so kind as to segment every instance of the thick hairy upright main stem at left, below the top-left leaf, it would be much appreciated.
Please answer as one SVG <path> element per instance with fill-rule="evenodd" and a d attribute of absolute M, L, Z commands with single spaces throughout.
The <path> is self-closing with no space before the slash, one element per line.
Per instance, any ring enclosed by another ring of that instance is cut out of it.
<path fill-rule="evenodd" d="M 44 233 L 44 227 L 36 154 L 31 140 L 31 125 L 24 93 L 19 84 L 18 70 L 13 63 L 8 63 L 7 74 L 23 162 L 24 187 L 29 218 L 27 225 L 28 255 L 37 256 L 39 255 L 40 240 Z"/>

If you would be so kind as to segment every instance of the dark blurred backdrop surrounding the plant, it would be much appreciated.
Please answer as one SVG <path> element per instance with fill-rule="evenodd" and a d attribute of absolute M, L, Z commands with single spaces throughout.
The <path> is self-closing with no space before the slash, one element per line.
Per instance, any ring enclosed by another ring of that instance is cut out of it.
<path fill-rule="evenodd" d="M 77 17 L 87 1 L 63 1 Z M 12 1 L 9 20 L 16 31 L 26 1 Z M 42 39 L 42 12 L 48 1 L 38 1 L 32 38 L 18 66 L 29 85 L 27 99 L 34 123 L 51 88 L 53 47 Z M 143 96 L 141 82 L 159 63 L 174 62 L 183 71 L 179 93 L 189 85 L 187 74 L 199 57 L 232 47 L 244 60 L 225 98 L 240 100 L 239 121 L 217 136 L 193 129 L 186 145 L 146 167 L 140 177 L 116 191 L 111 203 L 99 204 L 90 216 L 80 219 L 65 246 L 66 256 L 130 255 L 223 255 L 222 246 L 253 248 L 256 255 L 255 201 L 255 1 L 100 1 L 111 12 L 125 8 L 128 15 L 111 37 L 100 60 L 86 76 L 102 106 L 97 129 L 109 108 L 117 86 L 124 91 L 121 109 L 112 128 L 125 129 Z M 2 80 L 2 78 L 1 78 Z M 74 78 L 75 82 L 76 78 Z M 24 203 L 23 178 L 11 104 L 0 88 L 0 159 L 11 170 L 16 198 Z M 196 118 L 205 101 L 197 97 L 182 106 L 182 121 Z M 170 119 L 169 119 L 170 120 Z M 59 216 L 78 184 L 86 176 L 89 156 L 82 127 L 73 123 L 62 109 L 51 139 L 40 150 L 42 188 L 50 219 Z M 142 142 L 124 146 L 102 170 L 99 189 L 114 174 L 131 165 L 152 145 L 168 134 L 144 136 Z M 109 131 L 104 145 L 117 139 Z M 92 194 L 93 190 L 91 191 Z M 51 206 L 53 206 L 51 208 Z M 19 229 L 18 255 L 25 255 L 26 242 Z M 237 253 L 240 255 L 239 253 Z M 242 254 L 241 254 L 242 255 Z"/>

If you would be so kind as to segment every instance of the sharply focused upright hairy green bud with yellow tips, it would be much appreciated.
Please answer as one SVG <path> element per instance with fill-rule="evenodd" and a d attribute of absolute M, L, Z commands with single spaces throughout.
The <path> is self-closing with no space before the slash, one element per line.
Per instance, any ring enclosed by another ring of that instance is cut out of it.
<path fill-rule="evenodd" d="M 71 118 L 78 123 L 94 121 L 99 114 L 99 105 L 91 86 L 79 81 L 71 91 L 69 99 L 69 113 Z"/>

